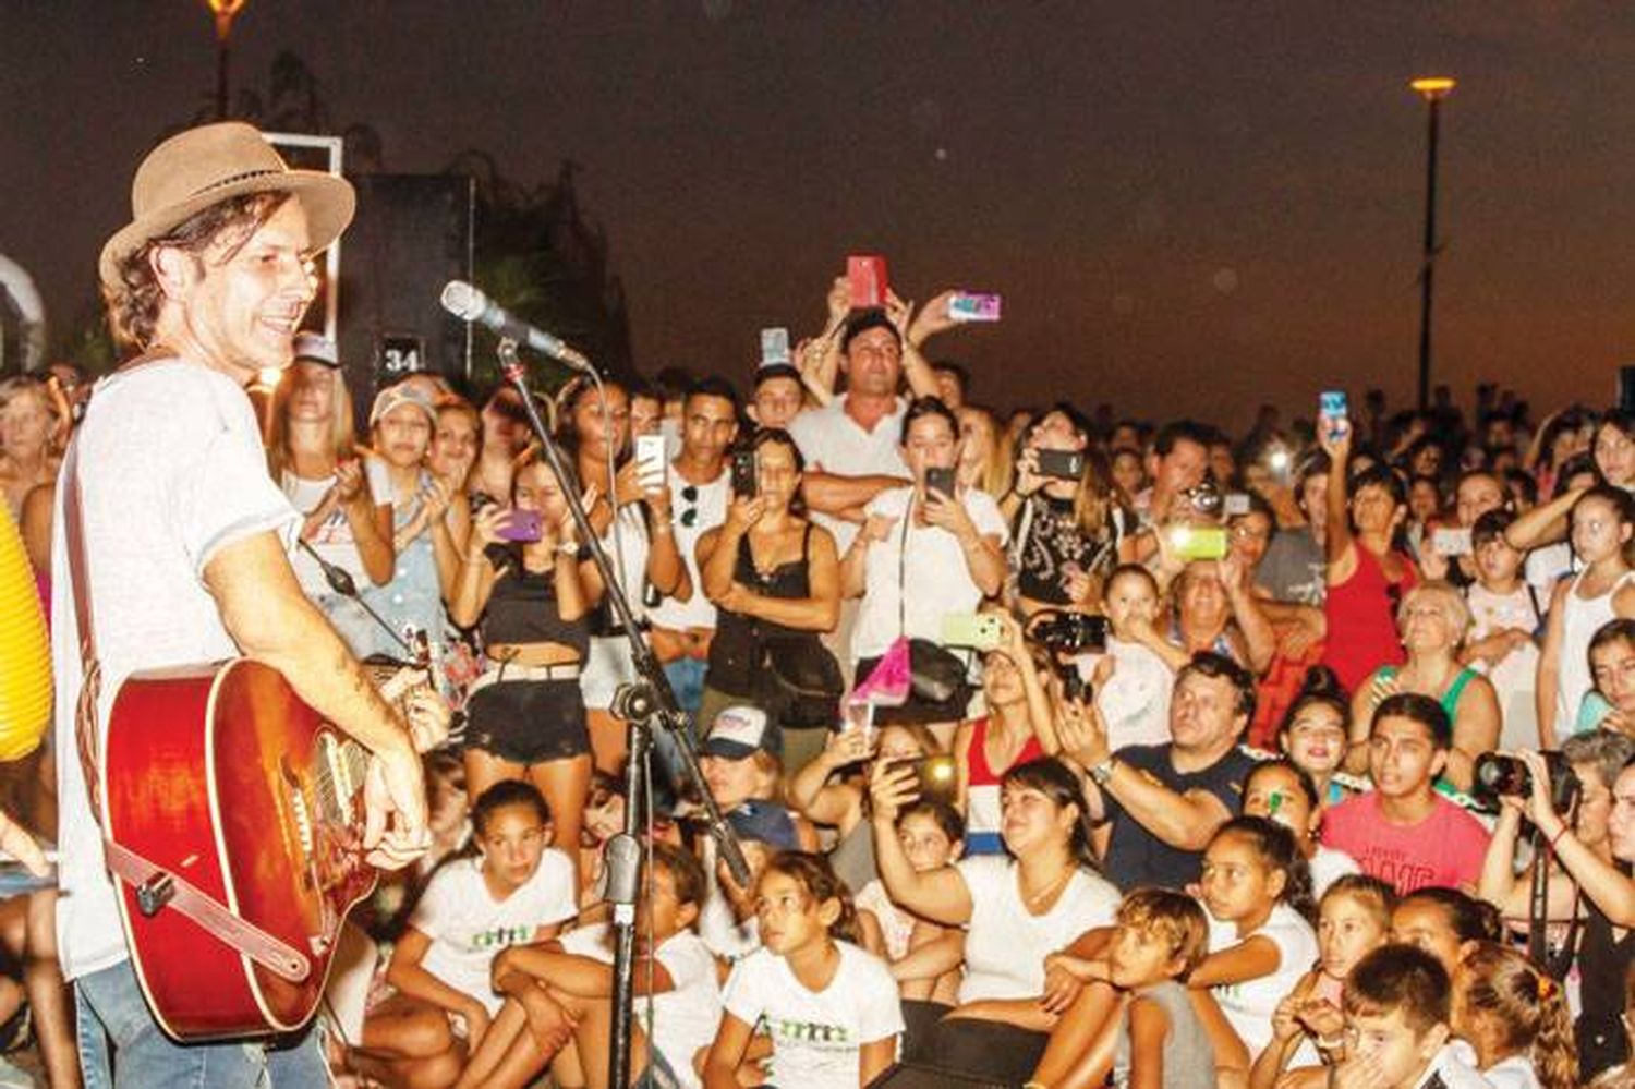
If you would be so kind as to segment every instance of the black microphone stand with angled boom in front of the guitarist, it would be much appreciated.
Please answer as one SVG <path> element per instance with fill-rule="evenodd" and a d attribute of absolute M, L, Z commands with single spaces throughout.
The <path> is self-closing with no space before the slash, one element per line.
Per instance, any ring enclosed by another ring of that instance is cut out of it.
<path fill-rule="evenodd" d="M 613 715 L 629 724 L 629 754 L 625 762 L 625 831 L 608 840 L 607 845 L 607 899 L 613 904 L 615 937 L 613 1032 L 608 1043 L 608 1084 L 613 1089 L 625 1089 L 629 1084 L 629 1033 L 634 1012 L 636 886 L 641 872 L 639 834 L 646 821 L 641 808 L 646 798 L 647 754 L 654 728 L 667 729 L 672 741 L 675 741 L 675 747 L 682 757 L 682 770 L 698 790 L 698 796 L 703 801 L 710 836 L 716 840 L 721 858 L 732 873 L 732 880 L 739 885 L 749 885 L 749 863 L 744 860 L 744 850 L 739 847 L 737 837 L 728 826 L 726 818 L 721 816 L 721 808 L 710 796 L 710 786 L 705 783 L 703 772 L 698 770 L 698 751 L 693 746 L 687 715 L 680 710 L 675 692 L 670 688 L 670 680 L 664 675 L 664 667 L 659 666 L 657 656 L 636 630 L 636 615 L 631 612 L 629 598 L 625 597 L 625 587 L 615 577 L 607 549 L 602 548 L 600 538 L 590 528 L 590 515 L 579 495 L 579 489 L 571 484 L 576 476 L 564 464 L 561 450 L 551 438 L 544 420 L 540 419 L 540 409 L 533 402 L 533 391 L 528 389 L 528 373 L 522 360 L 517 358 L 517 342 L 502 338 L 499 356 L 505 381 L 522 394 L 522 410 L 528 417 L 528 427 L 533 430 L 535 438 L 540 440 L 540 451 L 544 455 L 556 479 L 562 484 L 562 497 L 567 500 L 567 510 L 579 528 L 579 540 L 589 546 L 590 559 L 597 564 L 597 571 L 602 572 L 608 603 L 613 607 L 618 625 L 625 631 L 625 641 L 629 643 L 631 661 L 639 677 L 634 683 L 620 685 L 613 695 Z M 613 509 L 613 517 L 618 518 L 611 482 L 608 492 L 608 505 Z M 569 844 L 569 847 L 572 845 Z"/>

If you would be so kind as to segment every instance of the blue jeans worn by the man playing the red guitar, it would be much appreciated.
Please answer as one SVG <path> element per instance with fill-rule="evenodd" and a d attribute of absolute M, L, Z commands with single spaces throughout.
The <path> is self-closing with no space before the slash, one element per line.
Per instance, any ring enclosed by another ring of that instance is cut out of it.
<path fill-rule="evenodd" d="M 74 1007 L 85 1089 L 329 1086 L 319 1033 L 311 1027 L 278 1042 L 177 1043 L 147 1011 L 131 961 L 75 979 Z"/>

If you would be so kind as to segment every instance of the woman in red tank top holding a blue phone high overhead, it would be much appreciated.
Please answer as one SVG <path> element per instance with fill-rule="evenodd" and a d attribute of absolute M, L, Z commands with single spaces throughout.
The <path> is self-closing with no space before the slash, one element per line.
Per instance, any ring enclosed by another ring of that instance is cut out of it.
<path fill-rule="evenodd" d="M 1328 641 L 1323 664 L 1347 692 L 1377 667 L 1403 662 L 1396 605 L 1418 582 L 1414 562 L 1393 548 L 1408 497 L 1388 466 L 1373 464 L 1347 481 L 1351 422 L 1324 422 L 1318 441 L 1329 456 Z"/>

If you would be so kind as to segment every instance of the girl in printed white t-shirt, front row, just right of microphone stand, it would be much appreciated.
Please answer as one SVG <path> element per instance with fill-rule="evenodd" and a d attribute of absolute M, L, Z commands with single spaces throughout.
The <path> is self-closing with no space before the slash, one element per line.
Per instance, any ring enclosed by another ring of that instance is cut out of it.
<path fill-rule="evenodd" d="M 737 1089 L 757 1028 L 772 1040 L 767 1084 L 871 1082 L 896 1060 L 903 1011 L 885 961 L 850 942 L 857 914 L 845 885 L 822 855 L 783 852 L 760 875 L 755 916 L 762 947 L 726 983 L 726 1015 L 705 1060 L 706 1089 Z"/>

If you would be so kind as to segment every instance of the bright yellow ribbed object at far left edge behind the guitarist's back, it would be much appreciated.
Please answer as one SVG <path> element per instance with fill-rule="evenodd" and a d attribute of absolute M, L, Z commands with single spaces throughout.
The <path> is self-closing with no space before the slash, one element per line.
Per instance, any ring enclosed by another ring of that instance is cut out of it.
<path fill-rule="evenodd" d="M 51 721 L 51 639 L 34 567 L 11 510 L 0 504 L 0 760 L 39 747 Z"/>

